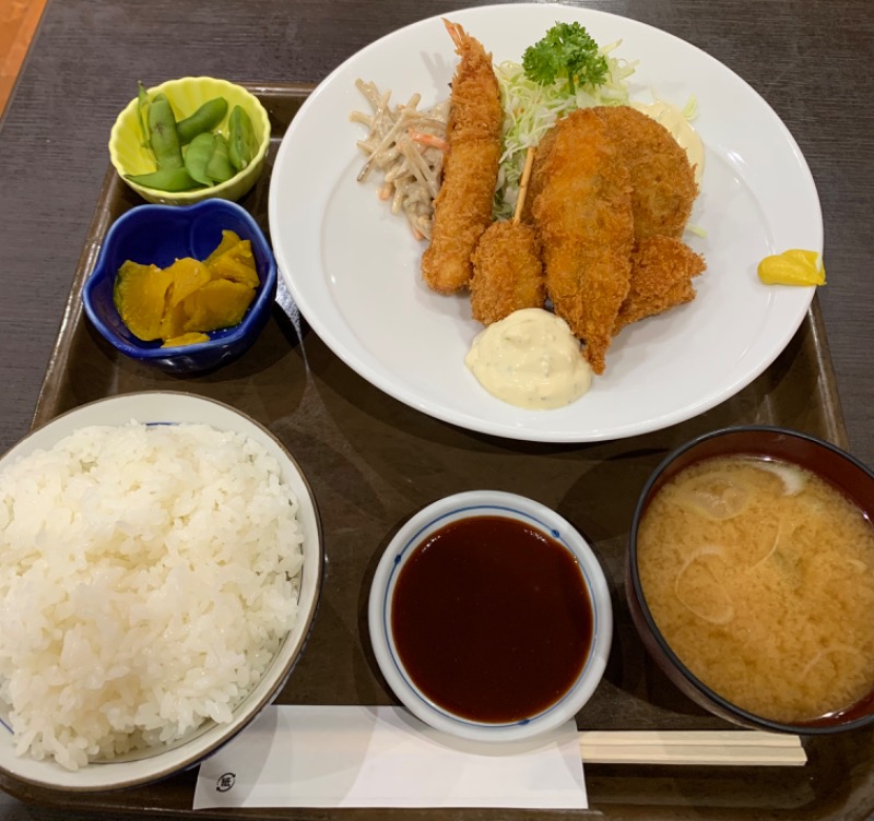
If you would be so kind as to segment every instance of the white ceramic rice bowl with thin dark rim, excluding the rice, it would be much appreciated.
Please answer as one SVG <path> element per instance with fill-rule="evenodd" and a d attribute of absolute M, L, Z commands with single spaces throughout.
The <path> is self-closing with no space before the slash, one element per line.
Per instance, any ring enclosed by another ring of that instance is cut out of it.
<path fill-rule="evenodd" d="M 0 772 L 31 784 L 70 792 L 102 792 L 145 784 L 193 766 L 243 730 L 280 692 L 309 635 L 318 608 L 324 551 L 316 500 L 297 463 L 265 428 L 214 400 L 181 392 L 150 391 L 110 396 L 82 405 L 52 419 L 0 457 L 0 471 L 38 449 L 48 449 L 75 430 L 90 425 L 121 426 L 135 419 L 144 424 L 200 423 L 232 430 L 255 440 L 276 459 L 282 478 L 297 498 L 297 519 L 304 534 L 298 616 L 275 657 L 255 689 L 235 707 L 228 724 L 206 722 L 178 741 L 139 750 L 113 761 L 95 762 L 71 772 L 51 759 L 19 758 L 8 724 L 8 709 L 0 707 Z"/>

